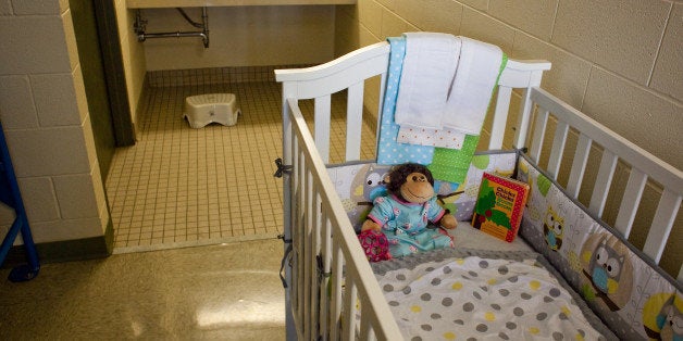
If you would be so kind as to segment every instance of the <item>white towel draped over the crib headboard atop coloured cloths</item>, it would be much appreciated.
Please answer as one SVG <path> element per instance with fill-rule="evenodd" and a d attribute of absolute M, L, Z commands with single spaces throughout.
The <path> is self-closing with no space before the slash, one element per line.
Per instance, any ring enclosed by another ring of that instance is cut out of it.
<path fill-rule="evenodd" d="M 460 149 L 465 134 L 479 136 L 502 51 L 447 34 L 407 33 L 396 102 L 398 142 Z"/>

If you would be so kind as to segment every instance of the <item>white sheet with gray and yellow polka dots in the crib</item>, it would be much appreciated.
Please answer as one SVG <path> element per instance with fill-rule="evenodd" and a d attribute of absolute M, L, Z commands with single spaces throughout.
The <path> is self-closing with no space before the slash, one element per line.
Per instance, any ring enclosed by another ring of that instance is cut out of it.
<path fill-rule="evenodd" d="M 373 265 L 406 340 L 616 339 L 538 254 L 448 253 Z"/>

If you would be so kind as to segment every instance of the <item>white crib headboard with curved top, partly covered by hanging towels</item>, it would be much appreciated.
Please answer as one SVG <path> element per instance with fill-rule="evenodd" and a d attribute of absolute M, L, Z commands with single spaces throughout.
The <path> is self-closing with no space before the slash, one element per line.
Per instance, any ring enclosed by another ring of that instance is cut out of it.
<path fill-rule="evenodd" d="M 361 125 L 363 114 L 364 81 L 381 76 L 380 99 L 384 98 L 384 86 L 389 59 L 389 45 L 377 42 L 356 50 L 334 61 L 307 68 L 276 70 L 275 79 L 283 84 L 283 121 L 288 124 L 290 111 L 287 101 L 314 99 L 314 140 L 323 161 L 330 155 L 331 93 L 347 89 L 346 159 L 360 159 Z M 546 61 L 509 60 L 498 81 L 498 96 L 493 116 L 489 150 L 500 149 L 508 122 L 512 89 L 522 89 L 522 104 L 513 146 L 522 146 L 530 124 L 531 109 L 529 91 L 541 85 L 543 72 L 550 68 Z M 382 109 L 382 101 L 377 112 Z M 380 117 L 377 117 L 380 118 Z M 286 134 L 286 132 L 285 132 Z M 287 140 L 287 139 L 285 139 Z M 285 152 L 286 153 L 286 152 Z M 287 156 L 285 155 L 285 159 Z"/>

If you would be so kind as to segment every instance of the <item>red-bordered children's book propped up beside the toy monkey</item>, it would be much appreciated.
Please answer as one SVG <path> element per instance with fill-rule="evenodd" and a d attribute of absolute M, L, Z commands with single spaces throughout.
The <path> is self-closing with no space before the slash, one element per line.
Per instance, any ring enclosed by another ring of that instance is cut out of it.
<path fill-rule="evenodd" d="M 522 222 L 529 189 L 525 182 L 484 173 L 474 206 L 472 226 L 511 242 Z"/>

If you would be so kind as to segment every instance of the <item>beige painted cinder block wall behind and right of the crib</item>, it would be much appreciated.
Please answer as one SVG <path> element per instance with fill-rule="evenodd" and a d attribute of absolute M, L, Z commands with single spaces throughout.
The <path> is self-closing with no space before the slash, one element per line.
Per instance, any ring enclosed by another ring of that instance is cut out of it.
<path fill-rule="evenodd" d="M 337 7 L 336 54 L 411 30 L 469 36 L 498 45 L 513 59 L 552 62 L 543 88 L 683 168 L 683 3 L 359 0 L 356 7 Z M 370 108 L 376 108 L 376 98 L 369 96 L 368 100 Z M 512 135 L 507 131 L 506 141 L 511 141 L 508 136 Z M 620 166 L 616 177 L 612 187 L 619 194 L 628 169 Z M 643 199 L 645 205 L 636 215 L 631 237 L 635 244 L 643 243 L 658 193 L 657 186 L 650 184 Z M 606 209 L 606 220 L 613 220 L 614 209 Z M 673 275 L 683 260 L 682 215 L 674 223 L 661 261 Z"/>

